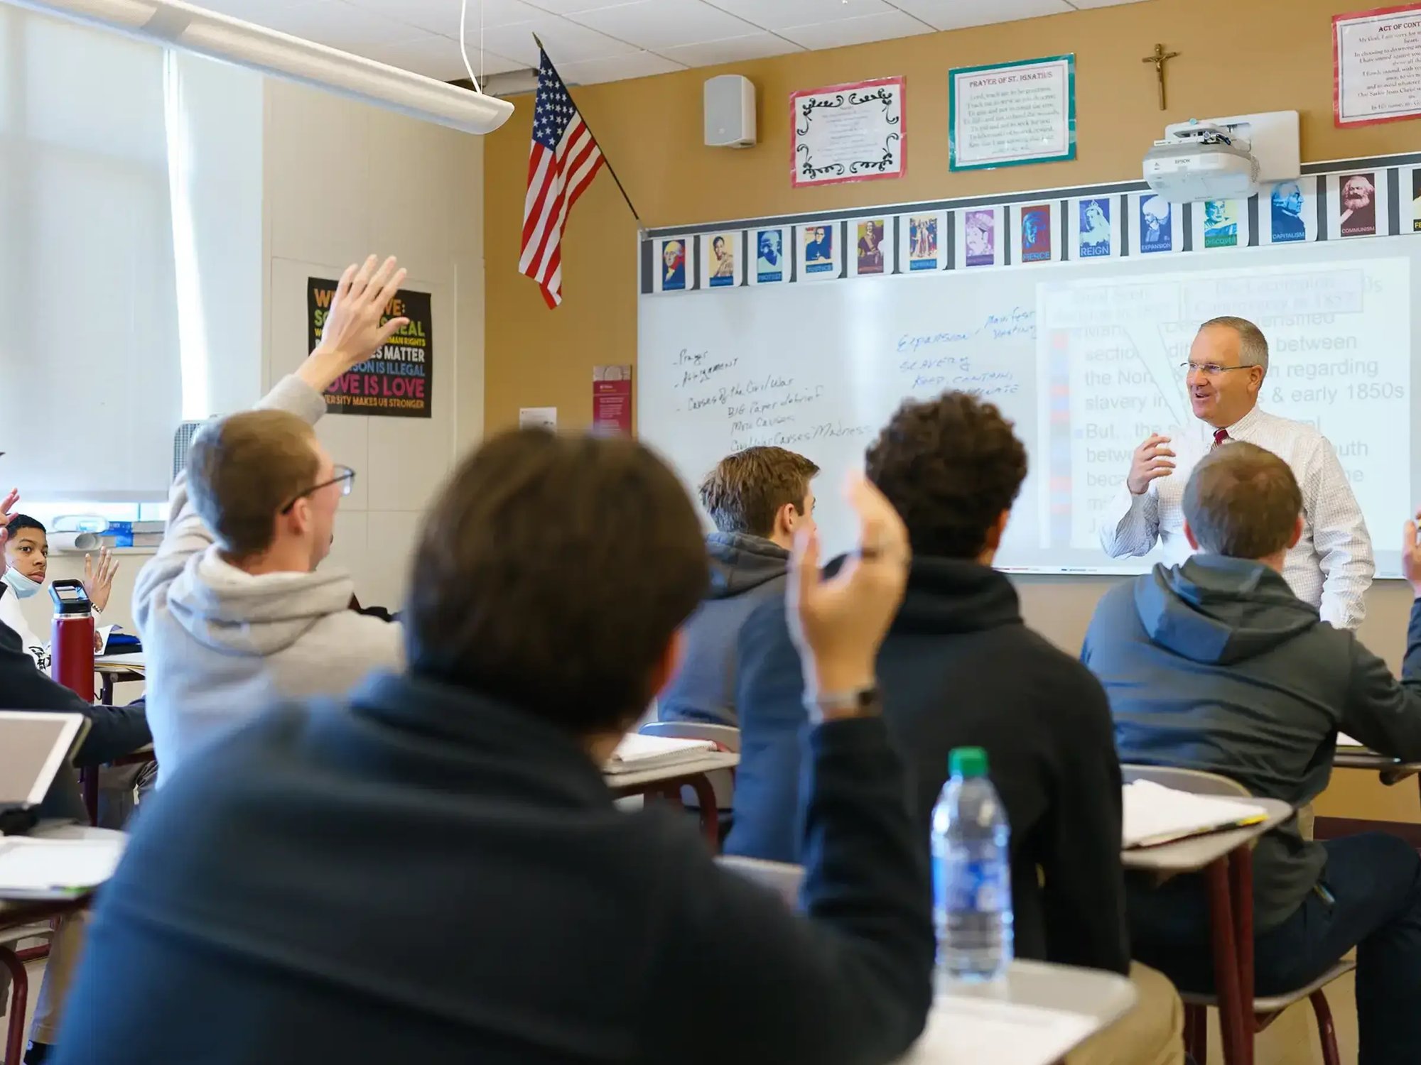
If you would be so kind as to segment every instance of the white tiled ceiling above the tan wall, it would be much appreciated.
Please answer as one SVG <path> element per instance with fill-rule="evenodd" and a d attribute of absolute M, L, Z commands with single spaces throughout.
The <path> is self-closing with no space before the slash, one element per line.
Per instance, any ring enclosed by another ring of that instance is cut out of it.
<path fill-rule="evenodd" d="M 193 0 L 433 78 L 465 77 L 460 0 Z M 469 0 L 476 74 L 537 65 L 588 84 L 1137 0 Z M 479 53 L 480 9 L 483 51 Z"/>

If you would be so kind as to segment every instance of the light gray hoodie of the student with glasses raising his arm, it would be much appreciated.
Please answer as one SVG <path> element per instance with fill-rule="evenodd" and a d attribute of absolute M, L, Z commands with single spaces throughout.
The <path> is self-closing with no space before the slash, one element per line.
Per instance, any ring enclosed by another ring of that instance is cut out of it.
<path fill-rule="evenodd" d="M 257 406 L 311 423 L 325 412 L 294 376 Z M 340 694 L 371 670 L 404 667 L 401 626 L 350 611 L 348 574 L 253 577 L 222 559 L 186 474 L 169 504 L 163 542 L 134 589 L 159 785 L 209 737 L 280 699 Z"/>

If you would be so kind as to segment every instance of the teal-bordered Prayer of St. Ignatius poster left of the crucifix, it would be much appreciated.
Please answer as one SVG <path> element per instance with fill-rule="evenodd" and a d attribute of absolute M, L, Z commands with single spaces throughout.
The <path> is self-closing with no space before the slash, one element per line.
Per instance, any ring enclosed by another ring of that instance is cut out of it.
<path fill-rule="evenodd" d="M 948 169 L 1076 158 L 1076 57 L 948 71 Z"/>

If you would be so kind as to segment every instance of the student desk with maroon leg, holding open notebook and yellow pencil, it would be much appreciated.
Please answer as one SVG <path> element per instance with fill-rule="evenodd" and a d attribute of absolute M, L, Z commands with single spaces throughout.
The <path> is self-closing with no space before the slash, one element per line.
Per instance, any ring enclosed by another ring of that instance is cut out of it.
<path fill-rule="evenodd" d="M 1214 984 L 1228 1065 L 1253 1062 L 1253 909 L 1238 905 L 1253 897 L 1250 845 L 1293 815 L 1293 808 L 1279 799 L 1246 801 L 1262 807 L 1268 818 L 1258 825 L 1120 853 L 1127 869 L 1161 876 L 1204 873 L 1214 941 Z"/>

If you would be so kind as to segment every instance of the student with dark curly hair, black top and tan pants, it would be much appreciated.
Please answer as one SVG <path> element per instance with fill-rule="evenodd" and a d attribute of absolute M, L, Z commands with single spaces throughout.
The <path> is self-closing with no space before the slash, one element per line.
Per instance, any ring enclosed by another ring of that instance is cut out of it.
<path fill-rule="evenodd" d="M 868 449 L 867 471 L 912 545 L 878 677 L 924 858 L 948 754 L 983 747 L 1012 826 L 1016 956 L 1130 973 L 1110 706 L 1088 670 L 1026 628 L 1016 589 L 992 568 L 1026 449 L 996 406 L 946 392 L 905 402 Z M 807 719 L 783 602 L 746 619 L 737 657 L 742 743 L 726 851 L 797 862 Z M 1141 1007 L 1070 1065 L 1182 1061 L 1174 988 L 1152 970 L 1134 977 Z"/>

